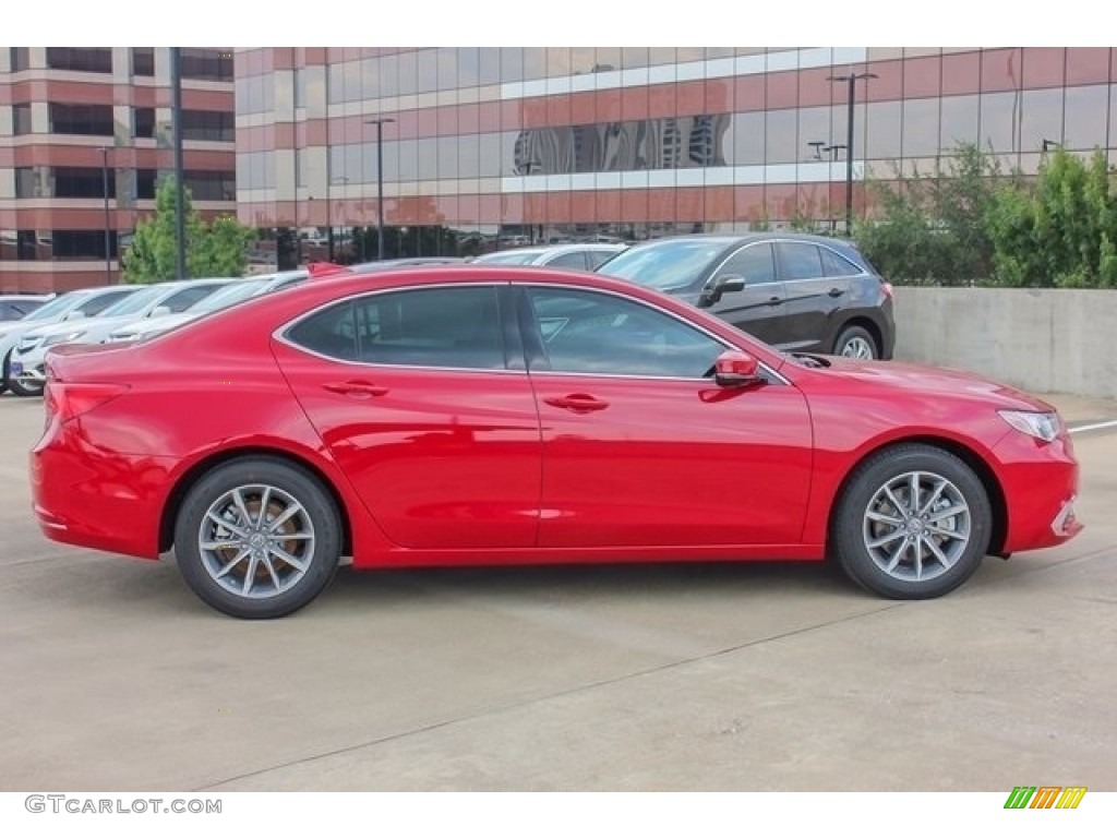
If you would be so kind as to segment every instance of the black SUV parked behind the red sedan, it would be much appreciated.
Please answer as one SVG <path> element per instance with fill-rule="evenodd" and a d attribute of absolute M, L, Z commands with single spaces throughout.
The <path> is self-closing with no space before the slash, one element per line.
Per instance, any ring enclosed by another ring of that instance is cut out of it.
<path fill-rule="evenodd" d="M 782 350 L 892 356 L 892 286 L 844 239 L 680 236 L 636 245 L 598 273 L 682 297 Z"/>

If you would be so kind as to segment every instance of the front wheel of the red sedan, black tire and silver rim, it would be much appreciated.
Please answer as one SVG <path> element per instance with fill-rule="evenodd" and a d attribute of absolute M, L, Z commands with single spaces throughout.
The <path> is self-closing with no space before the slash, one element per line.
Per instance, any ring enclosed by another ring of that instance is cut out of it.
<path fill-rule="evenodd" d="M 977 570 L 992 523 L 985 487 L 970 466 L 939 448 L 899 445 L 869 457 L 847 482 L 837 499 L 831 547 L 846 574 L 866 590 L 889 599 L 932 599 Z"/>

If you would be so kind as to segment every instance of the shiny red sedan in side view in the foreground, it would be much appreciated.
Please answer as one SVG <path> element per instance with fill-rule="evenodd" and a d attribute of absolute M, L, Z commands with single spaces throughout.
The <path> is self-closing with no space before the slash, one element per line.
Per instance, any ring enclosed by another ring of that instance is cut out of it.
<path fill-rule="evenodd" d="M 50 539 L 155 559 L 237 617 L 355 568 L 836 559 L 922 599 L 1065 542 L 1047 403 L 958 372 L 787 355 L 604 276 L 324 278 L 48 356 Z"/>

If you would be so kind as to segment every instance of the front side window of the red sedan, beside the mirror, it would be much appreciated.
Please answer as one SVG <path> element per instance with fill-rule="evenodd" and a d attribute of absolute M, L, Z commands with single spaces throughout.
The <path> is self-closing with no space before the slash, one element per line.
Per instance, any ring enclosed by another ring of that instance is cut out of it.
<path fill-rule="evenodd" d="M 532 288 L 554 372 L 705 377 L 724 346 L 660 311 L 596 292 Z"/>

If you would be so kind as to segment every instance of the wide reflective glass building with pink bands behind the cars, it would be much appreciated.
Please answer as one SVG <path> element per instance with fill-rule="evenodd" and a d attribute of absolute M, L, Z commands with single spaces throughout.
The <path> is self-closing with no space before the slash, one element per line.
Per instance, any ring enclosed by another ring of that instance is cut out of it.
<path fill-rule="evenodd" d="M 844 213 L 866 172 L 962 141 L 1034 171 L 1115 154 L 1109 48 L 270 48 L 235 54 L 240 219 L 256 260 L 468 255 Z M 370 120 L 379 117 L 382 134 Z M 1115 158 L 1117 161 L 1117 158 Z"/>

